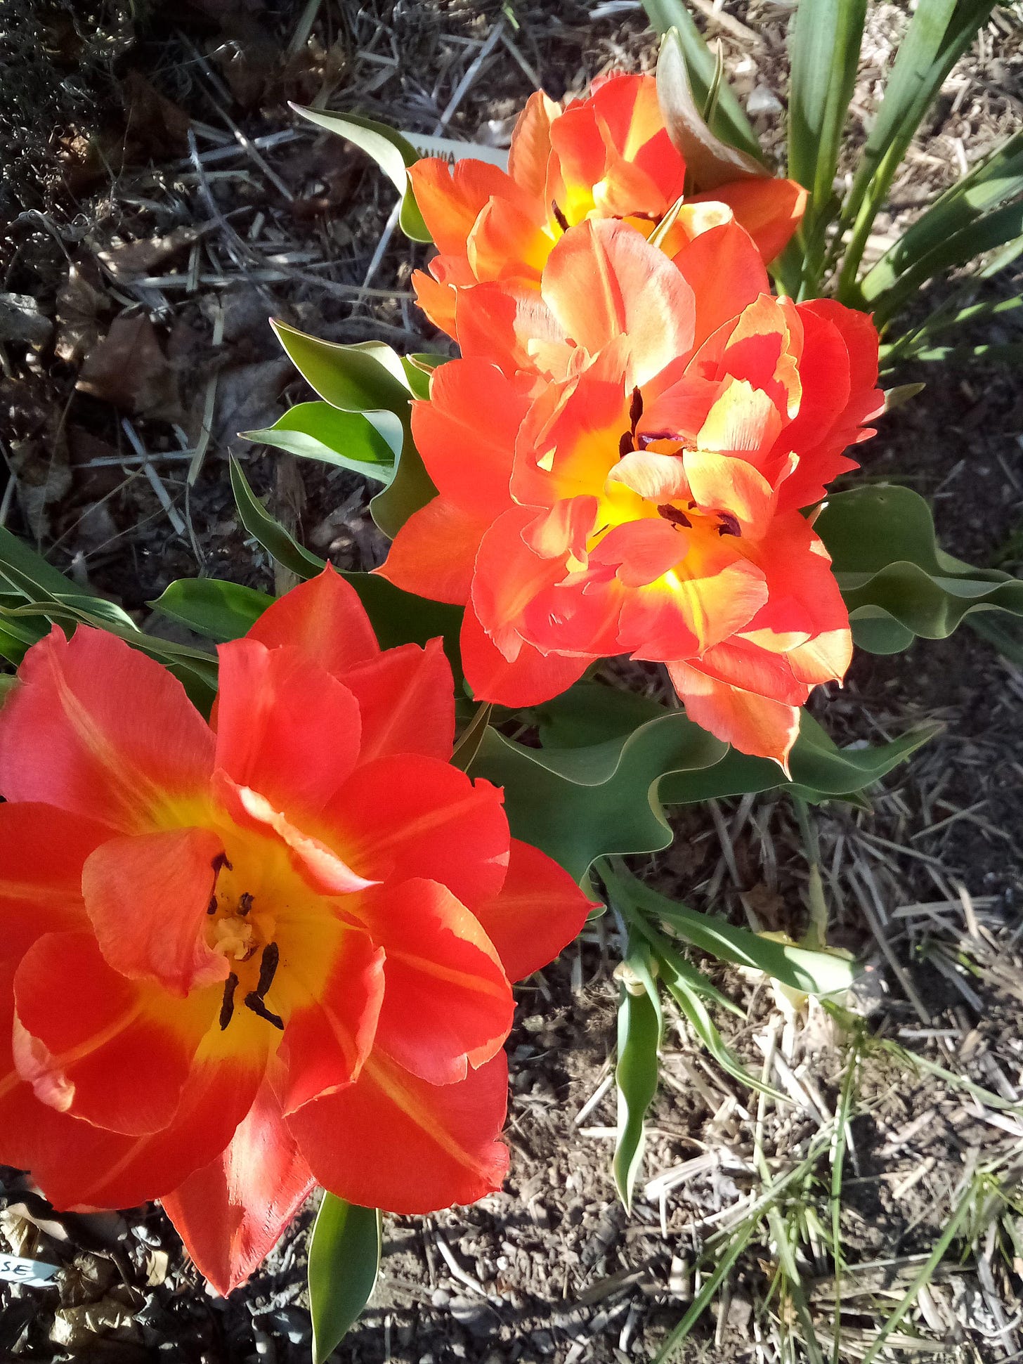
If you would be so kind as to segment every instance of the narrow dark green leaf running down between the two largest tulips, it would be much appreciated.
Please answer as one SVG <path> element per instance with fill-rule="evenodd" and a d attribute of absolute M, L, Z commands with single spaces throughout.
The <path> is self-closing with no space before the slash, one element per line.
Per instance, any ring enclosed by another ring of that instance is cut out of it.
<path fill-rule="evenodd" d="M 325 561 L 304 550 L 295 536 L 270 516 L 252 491 L 241 465 L 233 458 L 231 486 L 239 520 L 273 559 L 300 578 L 311 578 L 323 570 Z M 439 636 L 445 641 L 445 652 L 456 681 L 461 681 L 458 634 L 462 612 L 458 607 L 402 592 L 374 573 L 342 573 L 342 577 L 359 593 L 382 649 L 393 649 L 400 644 L 426 644 L 427 640 Z"/>

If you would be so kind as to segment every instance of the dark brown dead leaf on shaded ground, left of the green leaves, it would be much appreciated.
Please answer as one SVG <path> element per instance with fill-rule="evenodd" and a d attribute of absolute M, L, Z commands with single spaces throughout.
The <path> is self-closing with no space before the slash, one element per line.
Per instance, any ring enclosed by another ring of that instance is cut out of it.
<path fill-rule="evenodd" d="M 145 314 L 121 314 L 86 356 L 75 387 L 123 412 L 180 421 L 177 371 L 164 355 L 157 329 Z"/>

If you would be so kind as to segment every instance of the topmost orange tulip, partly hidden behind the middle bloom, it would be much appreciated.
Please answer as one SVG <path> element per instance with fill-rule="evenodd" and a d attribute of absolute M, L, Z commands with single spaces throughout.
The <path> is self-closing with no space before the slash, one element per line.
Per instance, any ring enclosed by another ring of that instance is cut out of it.
<path fill-rule="evenodd" d="M 409 176 L 439 252 L 430 274 L 413 276 L 419 303 L 458 340 L 458 289 L 491 280 L 536 288 L 555 243 L 578 222 L 621 218 L 651 236 L 674 214 L 660 241 L 674 255 L 734 218 L 769 263 L 806 205 L 802 186 L 768 175 L 693 192 L 652 75 L 596 80 L 587 100 L 565 109 L 546 94 L 531 95 L 512 136 L 507 173 L 484 161 L 449 168 L 431 157 L 412 165 Z"/>

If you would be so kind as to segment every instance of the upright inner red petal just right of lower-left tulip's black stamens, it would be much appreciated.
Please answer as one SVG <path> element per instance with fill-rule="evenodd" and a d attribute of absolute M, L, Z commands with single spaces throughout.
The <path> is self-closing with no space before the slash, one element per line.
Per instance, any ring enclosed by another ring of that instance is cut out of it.
<path fill-rule="evenodd" d="M 284 1112 L 293 1113 L 359 1078 L 383 1001 L 383 951 L 361 929 L 346 926 L 326 981 L 303 988 L 301 962 L 289 960 L 284 986 L 300 1000 L 278 1052 L 286 1071 L 278 1097 Z"/>

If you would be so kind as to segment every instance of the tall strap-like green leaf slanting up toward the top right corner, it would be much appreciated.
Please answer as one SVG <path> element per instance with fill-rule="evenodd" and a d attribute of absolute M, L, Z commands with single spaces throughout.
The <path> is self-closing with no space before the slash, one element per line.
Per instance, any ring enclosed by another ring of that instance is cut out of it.
<path fill-rule="evenodd" d="M 986 23 L 994 0 L 926 0 L 914 11 L 861 153 L 842 222 L 853 226 L 839 297 L 855 303 L 863 247 L 895 173 L 945 76 Z"/>

